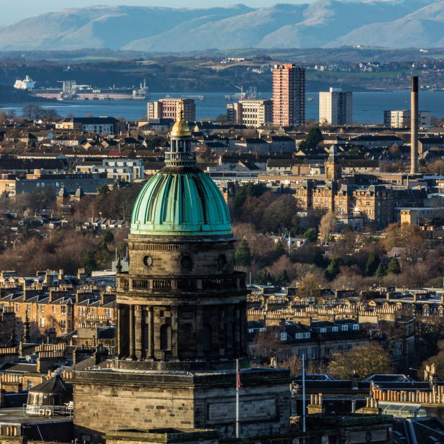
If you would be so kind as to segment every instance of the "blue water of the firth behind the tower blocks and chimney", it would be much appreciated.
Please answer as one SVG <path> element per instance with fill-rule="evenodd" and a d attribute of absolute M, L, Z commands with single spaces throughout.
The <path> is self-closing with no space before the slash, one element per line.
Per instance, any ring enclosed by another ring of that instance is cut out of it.
<path fill-rule="evenodd" d="M 180 97 L 180 93 L 151 93 L 149 101 L 156 101 L 165 96 Z M 230 92 L 194 92 L 184 93 L 184 96 L 204 96 L 205 101 L 196 99 L 196 119 L 214 119 L 219 114 L 226 113 L 226 94 Z M 262 94 L 263 99 L 269 99 L 271 92 Z M 319 95 L 316 92 L 307 92 L 306 97 L 313 101 L 306 101 L 305 116 L 307 119 L 318 120 Z M 90 113 L 94 117 L 122 116 L 128 120 L 146 117 L 147 101 L 57 101 L 54 103 L 36 103 L 43 108 L 55 108 L 62 117 L 69 114 L 74 117 L 85 117 Z M 34 102 L 35 103 L 35 102 Z M 17 115 L 22 113 L 22 108 L 28 103 L 0 103 L 3 109 L 14 108 Z M 356 123 L 382 123 L 384 110 L 402 110 L 410 108 L 409 91 L 377 91 L 353 93 L 353 121 Z M 419 110 L 430 111 L 436 117 L 444 117 L 444 91 L 421 91 L 419 94 Z"/>

